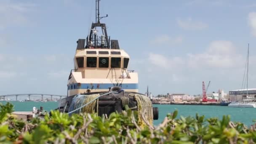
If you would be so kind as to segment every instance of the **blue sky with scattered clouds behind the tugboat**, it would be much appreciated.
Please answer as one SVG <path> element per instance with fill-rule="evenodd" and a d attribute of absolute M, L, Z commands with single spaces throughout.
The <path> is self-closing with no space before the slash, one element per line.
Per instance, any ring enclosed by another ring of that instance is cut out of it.
<path fill-rule="evenodd" d="M 108 34 L 131 56 L 139 91 L 240 89 L 250 43 L 256 88 L 255 0 L 101 0 Z M 66 94 L 76 41 L 95 21 L 95 0 L 0 0 L 0 95 Z"/>

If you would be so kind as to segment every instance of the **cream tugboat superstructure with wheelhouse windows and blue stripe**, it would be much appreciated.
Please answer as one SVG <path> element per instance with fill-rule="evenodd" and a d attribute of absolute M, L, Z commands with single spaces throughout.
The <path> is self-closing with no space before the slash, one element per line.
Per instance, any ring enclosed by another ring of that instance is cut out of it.
<path fill-rule="evenodd" d="M 109 91 L 120 86 L 128 92 L 138 92 L 138 74 L 128 71 L 129 55 L 120 49 L 77 49 L 75 70 L 68 80 L 68 96 Z"/>

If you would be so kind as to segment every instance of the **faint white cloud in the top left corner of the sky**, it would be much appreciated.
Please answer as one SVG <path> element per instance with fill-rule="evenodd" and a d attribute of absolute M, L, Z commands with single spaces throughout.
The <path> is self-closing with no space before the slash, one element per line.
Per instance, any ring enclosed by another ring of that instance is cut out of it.
<path fill-rule="evenodd" d="M 10 25 L 20 25 L 27 23 L 25 13 L 30 11 L 34 4 L 13 3 L 11 0 L 0 1 L 0 29 Z"/>

